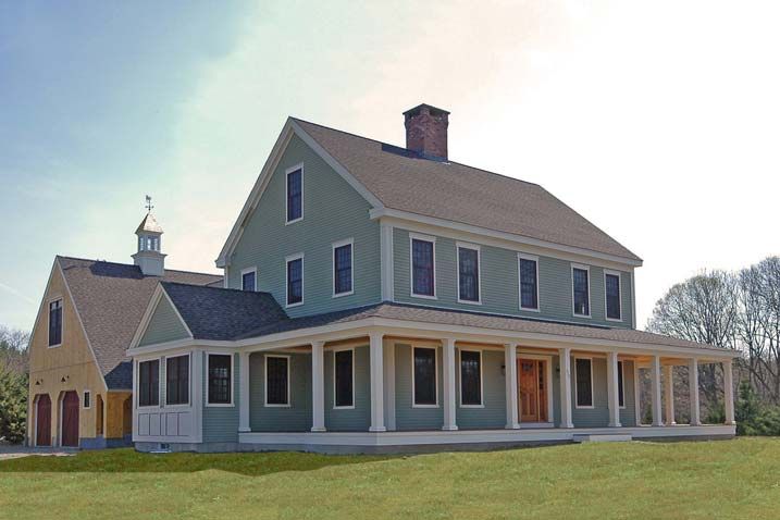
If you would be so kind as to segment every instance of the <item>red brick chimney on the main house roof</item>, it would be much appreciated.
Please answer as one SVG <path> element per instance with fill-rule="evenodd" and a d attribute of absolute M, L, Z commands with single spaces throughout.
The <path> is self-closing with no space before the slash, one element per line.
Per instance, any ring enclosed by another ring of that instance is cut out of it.
<path fill-rule="evenodd" d="M 449 112 L 420 104 L 404 112 L 406 148 L 432 159 L 447 159 Z"/>

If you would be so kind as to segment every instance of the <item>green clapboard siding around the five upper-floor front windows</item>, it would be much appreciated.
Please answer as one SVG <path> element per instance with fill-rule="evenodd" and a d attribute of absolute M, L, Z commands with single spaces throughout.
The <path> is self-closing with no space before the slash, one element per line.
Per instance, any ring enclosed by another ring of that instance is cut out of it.
<path fill-rule="evenodd" d="M 631 273 L 621 272 L 620 290 L 622 320 L 607 321 L 605 315 L 604 270 L 591 267 L 591 317 L 578 318 L 572 313 L 571 262 L 553 257 L 538 258 L 540 312 L 520 310 L 517 251 L 481 246 L 482 305 L 458 302 L 458 264 L 456 240 L 436 237 L 436 299 L 411 296 L 409 232 L 394 228 L 394 293 L 396 301 L 418 304 L 474 312 L 519 315 L 536 319 L 567 321 L 608 326 L 631 326 L 633 295 Z"/>

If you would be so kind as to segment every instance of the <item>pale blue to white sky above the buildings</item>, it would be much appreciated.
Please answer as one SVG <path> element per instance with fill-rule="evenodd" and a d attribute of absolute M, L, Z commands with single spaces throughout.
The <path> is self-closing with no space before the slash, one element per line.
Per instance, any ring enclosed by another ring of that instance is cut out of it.
<path fill-rule="evenodd" d="M 739 5 L 739 9 L 736 8 Z M 287 115 L 537 182 L 672 283 L 780 252 L 770 3 L 2 2 L 0 324 L 54 255 L 129 262 L 144 195 L 168 265 L 216 257 Z"/>

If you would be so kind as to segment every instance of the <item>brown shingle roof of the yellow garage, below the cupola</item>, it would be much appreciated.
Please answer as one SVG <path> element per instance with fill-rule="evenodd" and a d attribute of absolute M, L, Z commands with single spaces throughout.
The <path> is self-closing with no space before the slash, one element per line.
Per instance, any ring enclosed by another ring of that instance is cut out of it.
<path fill-rule="evenodd" d="M 100 260 L 58 256 L 57 261 L 109 388 L 133 387 L 132 366 L 125 350 L 158 282 L 203 285 L 222 280 L 215 274 L 168 269 L 163 276 L 145 276 L 137 265 Z"/>

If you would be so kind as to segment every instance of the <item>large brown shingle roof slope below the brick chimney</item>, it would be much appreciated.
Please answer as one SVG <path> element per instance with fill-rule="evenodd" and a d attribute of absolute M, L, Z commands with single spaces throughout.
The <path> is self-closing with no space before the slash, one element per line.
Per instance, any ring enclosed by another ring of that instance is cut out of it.
<path fill-rule="evenodd" d="M 537 184 L 294 121 L 386 208 L 641 260 Z"/>

